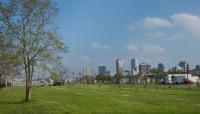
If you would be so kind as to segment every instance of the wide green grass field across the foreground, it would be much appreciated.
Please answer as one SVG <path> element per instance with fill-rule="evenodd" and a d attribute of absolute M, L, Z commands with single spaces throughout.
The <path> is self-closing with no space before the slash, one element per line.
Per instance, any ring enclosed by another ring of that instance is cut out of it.
<path fill-rule="evenodd" d="M 95 85 L 0 89 L 0 114 L 200 114 L 200 89 Z"/>

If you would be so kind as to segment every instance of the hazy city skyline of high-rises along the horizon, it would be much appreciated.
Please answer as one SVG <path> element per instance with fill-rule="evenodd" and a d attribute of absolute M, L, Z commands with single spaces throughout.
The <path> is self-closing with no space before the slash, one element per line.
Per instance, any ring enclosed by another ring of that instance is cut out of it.
<path fill-rule="evenodd" d="M 129 66 L 127 66 L 127 63 Z M 106 65 L 99 65 L 94 68 L 90 68 L 91 71 L 93 71 L 90 75 L 79 72 L 79 76 L 96 76 L 96 75 L 125 75 L 126 72 L 129 72 L 130 75 L 139 75 L 139 74 L 145 74 L 150 73 L 153 69 L 158 69 L 160 71 L 164 72 L 187 72 L 191 71 L 193 73 L 199 72 L 200 65 L 196 64 L 194 67 L 190 66 L 190 63 L 187 61 L 178 61 L 176 65 L 170 66 L 169 68 L 165 67 L 165 64 L 162 62 L 158 62 L 157 66 L 153 66 L 151 64 L 148 64 L 146 62 L 140 62 L 136 58 L 132 58 L 129 60 L 129 62 L 125 63 L 124 59 L 116 59 L 115 61 L 115 71 L 109 71 L 107 70 Z M 88 66 L 83 67 L 82 70 L 87 69 Z"/>

